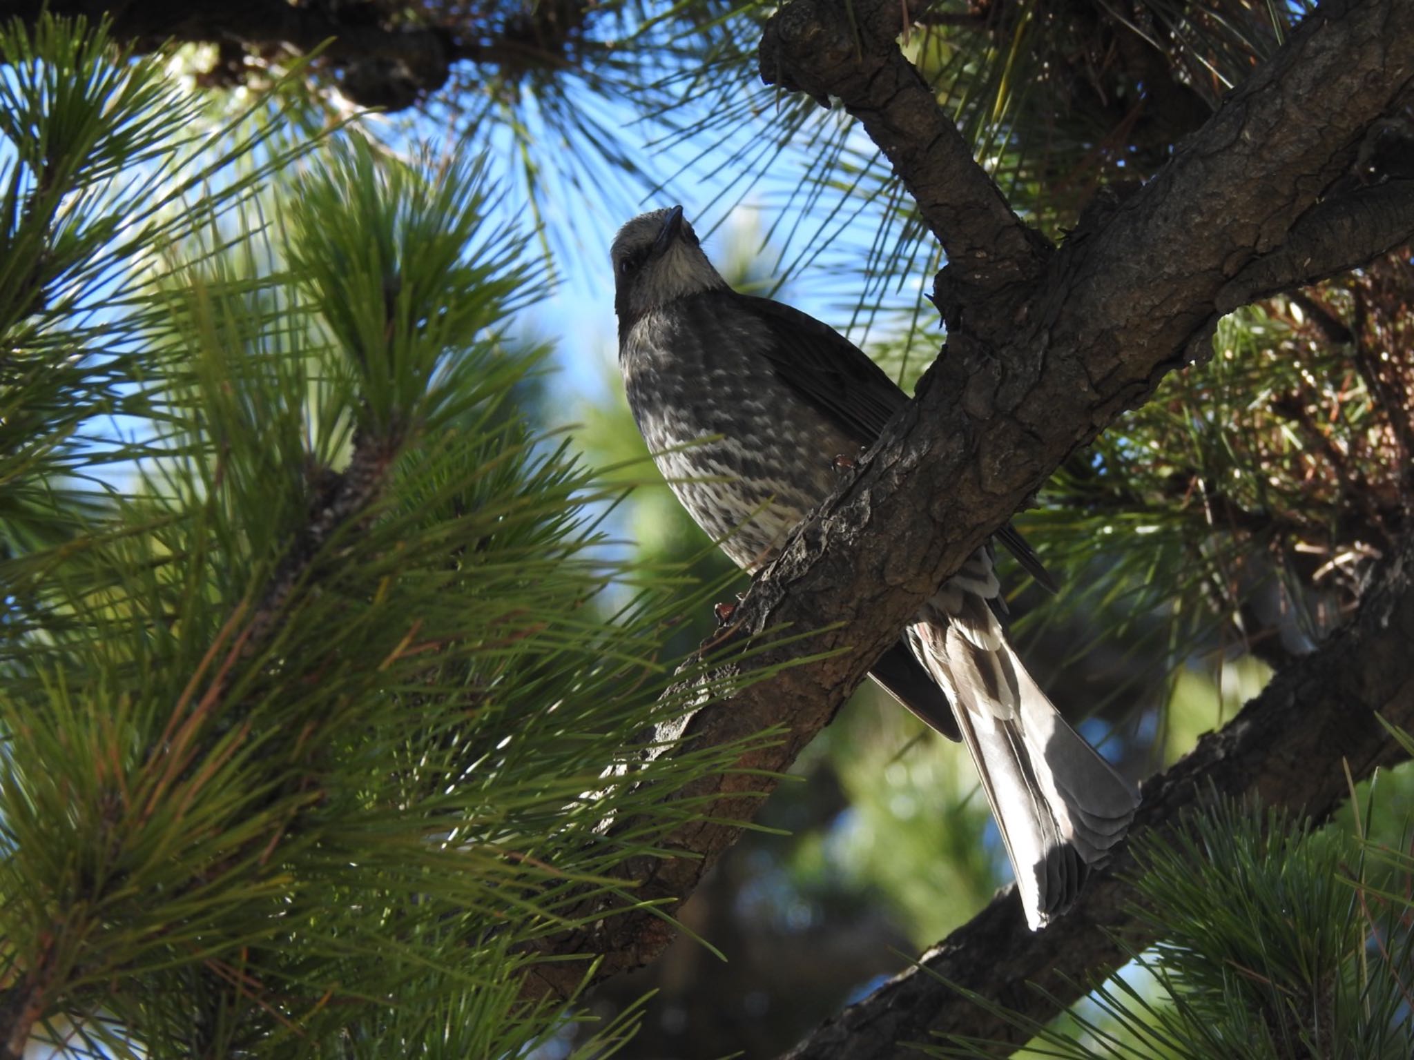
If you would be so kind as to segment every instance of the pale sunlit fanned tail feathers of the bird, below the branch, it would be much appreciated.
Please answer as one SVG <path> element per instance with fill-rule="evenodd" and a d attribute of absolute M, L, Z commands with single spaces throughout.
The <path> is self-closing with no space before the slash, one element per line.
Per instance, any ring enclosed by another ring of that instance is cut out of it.
<path fill-rule="evenodd" d="M 915 623 L 911 643 L 953 701 L 1036 930 L 1069 909 L 1086 865 L 1102 864 L 1124 837 L 1138 799 L 1066 725 L 1000 620 L 969 612 Z"/>

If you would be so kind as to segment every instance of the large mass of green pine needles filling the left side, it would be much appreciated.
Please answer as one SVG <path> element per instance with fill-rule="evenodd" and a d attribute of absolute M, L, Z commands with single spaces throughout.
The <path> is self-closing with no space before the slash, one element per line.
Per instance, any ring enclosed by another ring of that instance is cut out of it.
<path fill-rule="evenodd" d="M 160 57 L 51 20 L 0 52 L 6 1033 L 550 1039 L 534 943 L 632 907 L 611 871 L 740 749 L 635 745 L 706 601 L 605 558 L 618 488 L 508 406 L 542 273 L 484 167 L 344 140 L 271 188 L 288 153 L 192 140 Z"/>

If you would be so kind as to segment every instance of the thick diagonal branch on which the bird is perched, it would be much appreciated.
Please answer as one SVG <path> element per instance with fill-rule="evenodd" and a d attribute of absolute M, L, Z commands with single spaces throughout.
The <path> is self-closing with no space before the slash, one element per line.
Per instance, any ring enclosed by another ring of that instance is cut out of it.
<path fill-rule="evenodd" d="M 795 0 L 778 17 L 809 20 L 837 7 L 833 0 Z M 863 25 L 881 25 L 870 20 L 878 20 L 882 7 L 891 7 L 889 0 L 853 3 Z M 809 37 L 807 30 L 800 33 Z M 896 51 L 882 33 L 861 33 L 861 48 L 871 49 L 855 57 L 863 68 L 894 68 L 891 59 L 881 66 L 872 51 Z M 874 78 L 850 75 L 834 45 L 820 61 L 840 64 L 844 72 L 836 79 L 812 73 L 806 52 L 773 54 L 785 83 L 840 95 L 850 109 L 872 106 Z M 1154 181 L 1068 240 L 1024 297 L 1012 290 L 957 302 L 947 352 L 929 369 L 918 399 L 738 608 L 742 633 L 758 642 L 779 628 L 814 632 L 805 642 L 773 643 L 751 661 L 799 664 L 715 700 L 660 738 L 680 738 L 662 752 L 676 753 L 677 746 L 724 745 L 771 726 L 785 726 L 788 735 L 756 745 L 740 760 L 740 772 L 680 793 L 680 799 L 715 800 L 714 818 L 694 818 L 677 831 L 667 845 L 682 856 L 626 861 L 622 872 L 636 885 L 633 897 L 670 910 L 691 893 L 735 841 L 740 821 L 749 820 L 761 796 L 775 787 L 775 775 L 829 722 L 922 602 L 1072 451 L 1185 362 L 1191 345 L 1216 325 L 1223 287 L 1247 263 L 1282 245 L 1411 78 L 1414 4 L 1328 3 L 1229 96 Z M 928 106 L 936 110 L 930 98 Z M 937 129 L 930 117 L 919 120 L 922 136 Z M 946 155 L 942 161 L 939 153 Z M 969 177 L 942 140 L 908 139 L 889 157 L 909 187 L 935 189 L 939 218 L 957 216 L 964 212 L 957 204 L 977 201 L 976 172 Z M 974 165 L 970 158 L 967 165 Z M 959 178 L 956 196 L 945 177 Z M 1003 257 L 1024 260 L 1015 252 L 1018 240 L 1028 239 L 1024 230 L 998 222 L 994 206 L 986 209 L 1014 249 Z M 696 684 L 701 701 L 747 670 L 724 664 L 708 673 Z M 1288 766 L 1273 760 L 1270 767 Z M 597 977 L 602 978 L 652 960 L 672 934 L 658 912 L 609 912 L 602 903 L 581 910 L 587 926 L 544 940 L 542 951 L 601 957 Z M 1072 920 L 1077 927 L 1086 923 L 1085 912 L 1066 923 Z M 564 996 L 583 972 L 583 964 L 543 962 L 526 988 Z"/>

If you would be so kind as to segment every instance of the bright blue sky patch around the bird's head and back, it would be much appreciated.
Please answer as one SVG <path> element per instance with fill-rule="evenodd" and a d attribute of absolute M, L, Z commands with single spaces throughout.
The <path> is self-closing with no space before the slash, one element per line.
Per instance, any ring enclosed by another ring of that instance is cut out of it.
<path fill-rule="evenodd" d="M 744 90 L 752 88 L 754 79 Z M 837 212 L 833 205 L 839 198 L 831 202 L 830 196 L 802 211 L 805 196 L 799 191 L 807 157 L 792 148 L 776 155 L 759 175 L 730 163 L 742 144 L 766 143 L 772 130 L 771 113 L 758 113 L 751 127 L 738 127 L 727 136 L 714 133 L 665 143 L 662 129 L 643 120 L 625 102 L 597 99 L 592 106 L 605 124 L 618 130 L 618 147 L 642 163 L 650 181 L 665 187 L 635 187 L 612 167 L 595 164 L 584 154 L 574 163 L 560 163 L 559 172 L 556 163 L 547 161 L 537 174 L 543 179 L 539 204 L 544 225 L 553 232 L 550 242 L 559 284 L 553 297 L 523 314 L 520 326 L 530 338 L 556 343 L 559 377 L 553 391 L 564 403 L 561 421 L 573 421 L 573 410 L 581 401 L 600 404 L 609 397 L 607 384 L 614 383 L 617 322 L 608 247 L 618 226 L 643 211 L 680 204 L 720 269 L 727 271 L 728 261 L 740 267 L 755 260 L 759 271 L 789 273 L 789 283 L 778 297 L 841 331 L 848 328 L 860 298 L 855 263 L 870 252 L 878 212 L 860 196 Z M 691 124 L 699 117 L 693 113 L 694 106 L 686 102 L 673 112 L 673 120 Z M 532 139 L 539 150 L 553 155 L 556 133 L 536 117 L 532 106 L 526 110 Z M 851 134 L 850 147 L 874 151 L 861 131 Z M 509 136 L 493 140 L 489 161 L 492 172 L 505 179 L 509 191 L 503 209 L 510 219 L 527 223 L 532 218 L 526 205 L 529 194 Z M 587 174 L 587 179 L 566 179 L 564 174 Z M 855 208 L 861 208 L 860 215 L 848 219 Z M 930 269 L 923 267 L 919 273 L 929 277 Z M 932 326 L 933 319 L 925 318 L 925 326 Z M 851 336 L 863 341 L 865 332 L 857 328 Z"/>

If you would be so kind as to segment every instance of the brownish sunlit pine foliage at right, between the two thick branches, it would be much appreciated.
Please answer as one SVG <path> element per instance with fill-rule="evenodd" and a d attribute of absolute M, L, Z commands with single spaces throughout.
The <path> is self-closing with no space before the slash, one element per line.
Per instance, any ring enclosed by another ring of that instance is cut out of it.
<path fill-rule="evenodd" d="M 1175 663 L 1281 666 L 1349 618 L 1414 500 L 1411 302 L 1398 253 L 1227 318 L 1210 359 L 1076 454 L 1025 517 L 1068 571 L 1051 619 L 1140 623 Z"/>

